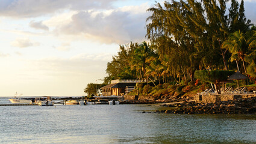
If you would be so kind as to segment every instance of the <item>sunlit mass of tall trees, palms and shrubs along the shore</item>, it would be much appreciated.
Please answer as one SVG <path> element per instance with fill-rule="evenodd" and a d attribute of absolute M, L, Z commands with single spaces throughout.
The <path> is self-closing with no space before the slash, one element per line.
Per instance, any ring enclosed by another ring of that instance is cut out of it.
<path fill-rule="evenodd" d="M 195 84 L 198 89 L 207 86 L 203 79 L 217 85 L 221 78 L 217 76 L 225 73 L 222 76 L 226 77 L 229 73 L 221 70 L 236 69 L 255 83 L 256 27 L 245 17 L 243 0 L 240 4 L 229 1 L 230 8 L 226 7 L 227 2 L 156 2 L 148 9 L 151 16 L 146 19 L 146 37 L 150 42 L 120 45 L 120 51 L 107 64 L 105 83 L 113 79 L 140 79 L 145 82 L 143 87 L 138 85 L 141 94 L 164 95 L 170 89 L 182 94 Z M 195 82 L 196 70 L 206 69 L 212 71 L 198 74 L 202 83 Z M 211 77 L 203 73 L 210 73 Z M 177 83 L 180 86 L 169 88 Z"/>

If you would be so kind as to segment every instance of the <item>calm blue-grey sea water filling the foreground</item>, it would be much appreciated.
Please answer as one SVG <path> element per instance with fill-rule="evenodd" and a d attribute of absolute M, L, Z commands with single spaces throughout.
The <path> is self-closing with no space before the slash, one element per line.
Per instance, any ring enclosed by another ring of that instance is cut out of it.
<path fill-rule="evenodd" d="M 0 143 L 256 143 L 256 115 L 142 113 L 157 109 L 0 106 Z"/>

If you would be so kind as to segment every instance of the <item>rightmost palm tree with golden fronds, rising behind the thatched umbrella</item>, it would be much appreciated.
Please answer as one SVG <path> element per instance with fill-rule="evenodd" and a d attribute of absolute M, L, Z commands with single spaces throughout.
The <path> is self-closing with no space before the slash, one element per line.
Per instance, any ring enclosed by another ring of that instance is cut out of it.
<path fill-rule="evenodd" d="M 249 44 L 248 44 L 248 34 L 243 34 L 243 32 L 236 31 L 233 34 L 229 35 L 228 40 L 224 41 L 222 44 L 222 49 L 228 49 L 229 52 L 232 54 L 230 61 L 237 61 L 241 60 L 243 62 L 243 68 L 246 73 L 245 68 L 245 57 L 248 55 L 249 52 Z M 239 67 L 237 67 L 239 68 Z"/>

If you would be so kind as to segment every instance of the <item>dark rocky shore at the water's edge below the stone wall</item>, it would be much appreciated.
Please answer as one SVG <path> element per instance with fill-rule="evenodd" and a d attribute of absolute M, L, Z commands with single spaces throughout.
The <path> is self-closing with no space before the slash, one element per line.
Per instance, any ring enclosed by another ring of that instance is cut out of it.
<path fill-rule="evenodd" d="M 217 101 L 216 103 L 195 103 L 195 101 L 184 101 L 184 103 L 164 104 L 163 106 L 166 107 L 164 110 L 156 110 L 155 113 L 256 114 L 256 97 Z"/>

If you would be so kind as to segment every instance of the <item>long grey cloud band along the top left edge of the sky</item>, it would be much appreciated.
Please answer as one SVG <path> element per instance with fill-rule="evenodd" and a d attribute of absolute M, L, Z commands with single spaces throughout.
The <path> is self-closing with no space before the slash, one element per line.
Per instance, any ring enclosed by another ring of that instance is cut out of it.
<path fill-rule="evenodd" d="M 0 16 L 38 17 L 61 10 L 90 10 L 111 8 L 117 0 L 1 0 Z"/>

